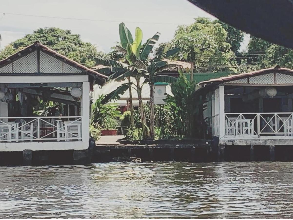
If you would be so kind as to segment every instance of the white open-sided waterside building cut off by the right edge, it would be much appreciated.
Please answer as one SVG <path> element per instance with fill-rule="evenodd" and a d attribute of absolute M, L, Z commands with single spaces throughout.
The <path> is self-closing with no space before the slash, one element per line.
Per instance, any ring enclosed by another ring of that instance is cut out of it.
<path fill-rule="evenodd" d="M 293 145 L 293 70 L 268 68 L 199 83 L 220 145 Z"/>

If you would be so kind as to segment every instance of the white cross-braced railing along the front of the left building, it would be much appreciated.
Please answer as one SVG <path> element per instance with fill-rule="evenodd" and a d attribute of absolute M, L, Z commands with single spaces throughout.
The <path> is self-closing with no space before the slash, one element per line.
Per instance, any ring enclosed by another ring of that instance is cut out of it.
<path fill-rule="evenodd" d="M 0 117 L 0 142 L 81 141 L 82 117 Z"/>

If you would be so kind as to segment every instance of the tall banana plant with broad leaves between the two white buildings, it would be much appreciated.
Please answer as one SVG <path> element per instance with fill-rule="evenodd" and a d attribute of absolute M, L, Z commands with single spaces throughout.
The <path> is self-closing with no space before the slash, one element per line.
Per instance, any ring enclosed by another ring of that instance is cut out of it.
<path fill-rule="evenodd" d="M 140 119 L 142 124 L 142 133 L 143 138 L 154 138 L 154 123 L 150 129 L 150 134 L 148 133 L 148 127 L 146 125 L 146 115 L 143 108 L 142 102 L 142 86 L 144 83 L 149 83 L 151 86 L 151 103 L 153 103 L 153 90 L 156 73 L 163 71 L 164 68 L 169 68 L 170 66 L 178 65 L 168 65 L 166 61 L 163 61 L 164 58 L 173 55 L 178 51 L 178 49 L 172 49 L 167 51 L 166 49 L 162 50 L 160 54 L 155 56 L 155 58 L 150 59 L 149 55 L 154 48 L 154 45 L 159 39 L 160 33 L 156 33 L 152 38 L 147 40 L 147 42 L 142 45 L 142 30 L 140 28 L 135 29 L 135 39 L 133 40 L 132 34 L 129 29 L 126 28 L 124 23 L 119 25 L 119 35 L 120 35 L 120 45 L 117 46 L 117 51 L 125 55 L 126 63 L 115 61 L 112 59 L 97 59 L 97 63 L 103 64 L 105 66 L 111 66 L 111 71 L 113 74 L 110 75 L 108 80 L 115 79 L 116 81 L 122 81 L 126 78 L 129 79 L 128 85 L 130 85 L 130 77 L 134 78 L 134 88 L 137 91 L 138 101 L 139 101 L 139 110 L 140 110 Z M 165 80 L 168 77 L 165 77 Z M 169 77 L 171 78 L 171 77 Z M 144 79 L 144 81 L 142 81 Z M 158 78 L 159 79 L 159 78 Z M 174 78 L 172 79 L 174 81 Z M 131 91 L 130 88 L 130 91 Z M 132 101 L 132 97 L 130 97 Z M 131 114 L 133 115 L 133 114 Z M 153 107 L 151 111 L 151 117 L 153 118 Z M 154 121 L 152 119 L 152 121 Z M 133 125 L 133 123 L 132 123 Z"/>

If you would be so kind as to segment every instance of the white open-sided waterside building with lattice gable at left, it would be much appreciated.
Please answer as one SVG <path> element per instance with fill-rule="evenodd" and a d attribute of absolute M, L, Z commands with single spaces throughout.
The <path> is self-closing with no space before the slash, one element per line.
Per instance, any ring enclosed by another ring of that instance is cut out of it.
<path fill-rule="evenodd" d="M 87 149 L 90 88 L 106 78 L 38 41 L 0 61 L 0 152 Z M 34 115 L 39 100 L 67 111 Z"/>

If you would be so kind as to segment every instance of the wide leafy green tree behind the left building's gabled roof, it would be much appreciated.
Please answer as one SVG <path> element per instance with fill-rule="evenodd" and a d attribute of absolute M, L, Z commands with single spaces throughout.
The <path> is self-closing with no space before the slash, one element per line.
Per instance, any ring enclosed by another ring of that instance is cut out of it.
<path fill-rule="evenodd" d="M 46 27 L 10 43 L 0 53 L 0 59 L 7 58 L 35 41 L 40 41 L 52 50 L 89 68 L 95 65 L 94 58 L 105 56 L 103 52 L 98 52 L 94 45 L 82 41 L 78 34 L 72 34 L 70 30 Z"/>

